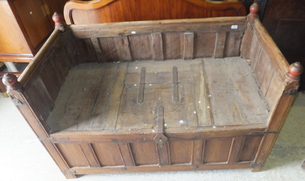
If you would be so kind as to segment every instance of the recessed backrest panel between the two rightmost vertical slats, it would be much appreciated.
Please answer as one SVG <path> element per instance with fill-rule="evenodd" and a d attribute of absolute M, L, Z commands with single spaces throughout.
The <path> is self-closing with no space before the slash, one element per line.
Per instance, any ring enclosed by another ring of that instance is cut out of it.
<path fill-rule="evenodd" d="M 195 33 L 194 56 L 196 58 L 212 57 L 214 55 L 216 33 Z"/>

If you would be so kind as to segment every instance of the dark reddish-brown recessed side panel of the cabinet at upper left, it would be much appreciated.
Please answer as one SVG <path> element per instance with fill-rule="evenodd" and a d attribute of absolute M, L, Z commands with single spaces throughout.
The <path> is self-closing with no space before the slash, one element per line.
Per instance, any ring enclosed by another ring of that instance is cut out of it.
<path fill-rule="evenodd" d="M 41 0 L 16 0 L 14 6 L 20 16 L 26 33 L 36 47 L 52 32 L 52 26 Z"/>

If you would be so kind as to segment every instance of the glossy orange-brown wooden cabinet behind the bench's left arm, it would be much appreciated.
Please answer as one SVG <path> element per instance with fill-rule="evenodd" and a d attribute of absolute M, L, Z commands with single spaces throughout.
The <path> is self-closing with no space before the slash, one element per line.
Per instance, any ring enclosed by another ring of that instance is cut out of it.
<path fill-rule="evenodd" d="M 30 62 L 53 31 L 63 0 L 0 1 L 0 62 Z"/>

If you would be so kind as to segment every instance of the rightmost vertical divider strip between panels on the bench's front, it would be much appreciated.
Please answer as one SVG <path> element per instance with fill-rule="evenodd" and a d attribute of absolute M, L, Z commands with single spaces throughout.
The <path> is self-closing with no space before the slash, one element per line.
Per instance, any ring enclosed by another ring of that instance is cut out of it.
<path fill-rule="evenodd" d="M 229 158 L 228 158 L 228 164 L 238 163 L 239 156 L 241 153 L 241 148 L 244 142 L 245 142 L 244 137 L 233 138 L 230 148 Z"/>

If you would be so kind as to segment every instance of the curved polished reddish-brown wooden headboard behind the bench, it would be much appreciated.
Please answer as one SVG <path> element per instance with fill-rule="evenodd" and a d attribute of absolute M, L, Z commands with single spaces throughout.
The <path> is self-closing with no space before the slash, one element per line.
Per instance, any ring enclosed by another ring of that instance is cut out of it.
<path fill-rule="evenodd" d="M 64 15 L 67 24 L 90 24 L 246 16 L 247 13 L 238 0 L 94 0 L 69 1 Z"/>

